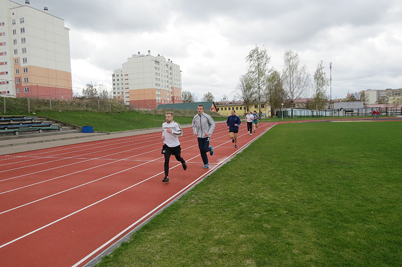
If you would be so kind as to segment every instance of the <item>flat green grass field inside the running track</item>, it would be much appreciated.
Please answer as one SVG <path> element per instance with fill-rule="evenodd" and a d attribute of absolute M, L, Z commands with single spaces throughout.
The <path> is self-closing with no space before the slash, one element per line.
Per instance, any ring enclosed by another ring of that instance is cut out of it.
<path fill-rule="evenodd" d="M 400 266 L 401 131 L 275 126 L 98 266 Z"/>

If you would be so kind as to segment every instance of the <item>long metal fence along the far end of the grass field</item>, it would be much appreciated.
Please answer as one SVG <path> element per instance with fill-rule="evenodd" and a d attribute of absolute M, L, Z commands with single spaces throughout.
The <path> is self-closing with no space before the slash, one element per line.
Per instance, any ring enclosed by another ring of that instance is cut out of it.
<path fill-rule="evenodd" d="M 293 118 L 297 117 L 354 117 L 354 116 L 373 116 L 373 111 L 379 111 L 380 116 L 402 116 L 401 107 L 372 107 L 372 108 L 356 108 L 356 109 L 323 109 L 323 110 L 307 110 L 293 109 Z M 291 117 L 291 109 L 277 110 L 278 118 Z"/>

